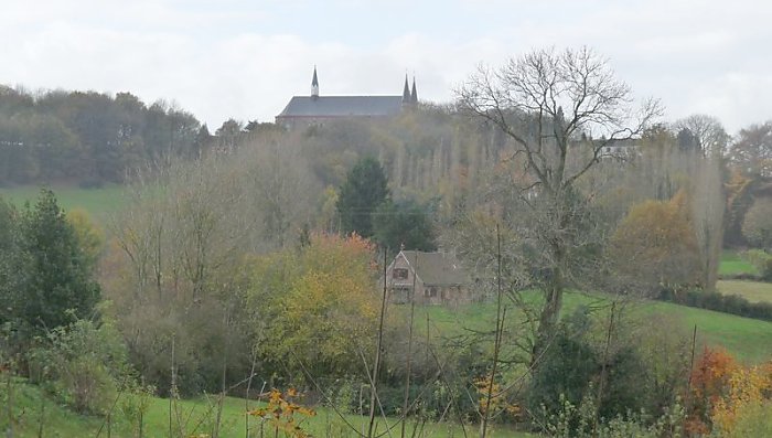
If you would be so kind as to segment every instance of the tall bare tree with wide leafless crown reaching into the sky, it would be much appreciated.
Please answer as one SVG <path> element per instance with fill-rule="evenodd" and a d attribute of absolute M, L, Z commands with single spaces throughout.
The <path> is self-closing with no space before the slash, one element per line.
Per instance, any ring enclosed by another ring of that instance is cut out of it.
<path fill-rule="evenodd" d="M 457 94 L 462 108 L 505 133 L 515 148 L 513 160 L 522 163 L 525 178 L 512 181 L 530 217 L 517 234 L 539 268 L 528 286 L 544 295 L 534 363 L 556 331 L 564 291 L 573 284 L 572 264 L 586 250 L 578 238 L 587 197 L 577 181 L 607 147 L 643 132 L 660 106 L 648 99 L 633 109 L 630 87 L 588 47 L 537 50 L 498 68 L 481 66 Z M 602 140 L 581 142 L 582 133 Z"/>

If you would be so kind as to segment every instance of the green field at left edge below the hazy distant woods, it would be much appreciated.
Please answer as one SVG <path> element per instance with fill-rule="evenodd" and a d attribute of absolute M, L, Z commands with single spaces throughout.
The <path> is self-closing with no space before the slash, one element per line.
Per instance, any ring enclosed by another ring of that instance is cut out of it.
<path fill-rule="evenodd" d="M 0 189 L 0 196 L 12 202 L 17 206 L 25 202 L 34 203 L 41 186 L 23 185 L 13 189 Z M 105 185 L 100 189 L 81 189 L 77 186 L 50 186 L 56 194 L 60 205 L 65 211 L 83 209 L 95 221 L 104 221 L 107 215 L 120 209 L 124 199 L 124 188 L 117 184 Z"/>

